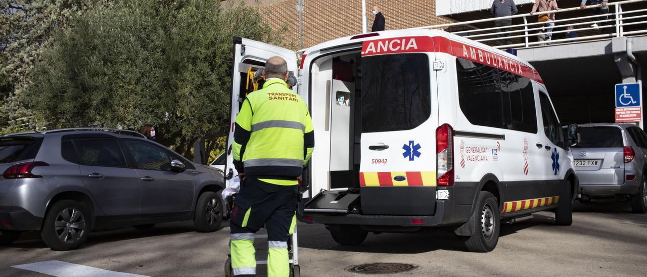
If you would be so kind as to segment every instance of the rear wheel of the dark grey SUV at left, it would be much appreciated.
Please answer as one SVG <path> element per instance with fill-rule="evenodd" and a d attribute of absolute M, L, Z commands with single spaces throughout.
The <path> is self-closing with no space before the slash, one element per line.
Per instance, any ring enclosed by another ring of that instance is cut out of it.
<path fill-rule="evenodd" d="M 90 235 L 88 208 L 80 202 L 62 200 L 54 203 L 45 216 L 41 238 L 52 250 L 77 249 Z"/>

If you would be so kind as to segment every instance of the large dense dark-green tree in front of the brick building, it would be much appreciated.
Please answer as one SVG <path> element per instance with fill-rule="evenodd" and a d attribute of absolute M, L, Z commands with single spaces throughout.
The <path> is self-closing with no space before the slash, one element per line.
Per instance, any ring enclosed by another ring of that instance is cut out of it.
<path fill-rule="evenodd" d="M 242 2 L 105 3 L 55 32 L 26 99 L 50 128 L 153 124 L 185 155 L 201 138 L 213 149 L 229 128 L 232 38 L 280 45 L 282 32 Z"/>

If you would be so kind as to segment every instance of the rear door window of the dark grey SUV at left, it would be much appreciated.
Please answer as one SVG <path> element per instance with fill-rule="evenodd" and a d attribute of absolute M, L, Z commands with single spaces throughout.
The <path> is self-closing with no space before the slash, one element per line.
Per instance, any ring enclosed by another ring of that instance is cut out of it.
<path fill-rule="evenodd" d="M 78 163 L 87 166 L 126 166 L 124 153 L 116 139 L 74 140 Z"/>

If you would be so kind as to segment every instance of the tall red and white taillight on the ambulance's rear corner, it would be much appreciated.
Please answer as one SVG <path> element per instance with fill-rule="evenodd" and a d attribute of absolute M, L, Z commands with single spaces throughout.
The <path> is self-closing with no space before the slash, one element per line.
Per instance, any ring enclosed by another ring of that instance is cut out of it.
<path fill-rule="evenodd" d="M 454 129 L 443 124 L 436 129 L 436 172 L 438 186 L 454 184 Z"/>

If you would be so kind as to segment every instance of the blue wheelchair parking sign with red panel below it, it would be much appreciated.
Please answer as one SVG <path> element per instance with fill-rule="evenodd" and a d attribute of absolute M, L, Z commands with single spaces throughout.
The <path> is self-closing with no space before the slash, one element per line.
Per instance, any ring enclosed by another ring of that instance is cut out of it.
<path fill-rule="evenodd" d="M 615 85 L 615 122 L 639 122 L 642 120 L 640 83 Z"/>

